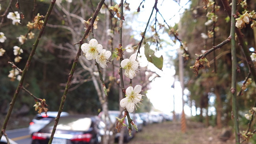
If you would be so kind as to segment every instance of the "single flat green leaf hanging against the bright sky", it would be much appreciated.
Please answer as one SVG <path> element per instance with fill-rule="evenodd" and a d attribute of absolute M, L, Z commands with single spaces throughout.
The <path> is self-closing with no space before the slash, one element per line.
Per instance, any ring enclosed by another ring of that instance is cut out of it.
<path fill-rule="evenodd" d="M 158 69 L 163 68 L 163 55 L 161 57 L 156 57 L 154 50 L 149 48 L 148 43 L 145 44 L 145 55 L 150 63 L 153 63 Z"/>

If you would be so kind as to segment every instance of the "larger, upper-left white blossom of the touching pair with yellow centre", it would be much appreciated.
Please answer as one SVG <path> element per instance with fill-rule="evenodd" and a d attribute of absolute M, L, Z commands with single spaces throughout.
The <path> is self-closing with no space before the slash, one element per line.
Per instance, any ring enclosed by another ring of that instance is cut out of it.
<path fill-rule="evenodd" d="M 81 49 L 86 59 L 91 60 L 96 59 L 98 54 L 102 51 L 102 45 L 98 44 L 98 41 L 96 39 L 91 39 L 89 41 L 89 44 L 82 44 Z"/>

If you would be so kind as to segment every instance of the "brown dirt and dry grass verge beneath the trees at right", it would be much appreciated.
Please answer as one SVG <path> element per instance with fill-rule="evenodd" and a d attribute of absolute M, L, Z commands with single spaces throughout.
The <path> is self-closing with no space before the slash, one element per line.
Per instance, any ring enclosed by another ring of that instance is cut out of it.
<path fill-rule="evenodd" d="M 220 139 L 227 129 L 187 122 L 187 131 L 182 133 L 180 123 L 163 122 L 143 127 L 143 131 L 136 133 L 129 144 L 235 144 L 233 132 L 228 140 Z"/>

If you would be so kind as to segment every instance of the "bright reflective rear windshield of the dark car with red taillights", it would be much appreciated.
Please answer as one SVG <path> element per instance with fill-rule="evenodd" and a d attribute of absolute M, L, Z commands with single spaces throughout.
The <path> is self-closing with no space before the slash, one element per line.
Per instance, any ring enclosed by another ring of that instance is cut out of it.
<path fill-rule="evenodd" d="M 50 122 L 47 127 L 53 127 L 55 121 Z M 91 118 L 77 118 L 68 117 L 60 118 L 57 128 L 58 130 L 71 130 L 71 131 L 88 131 L 91 127 Z"/>

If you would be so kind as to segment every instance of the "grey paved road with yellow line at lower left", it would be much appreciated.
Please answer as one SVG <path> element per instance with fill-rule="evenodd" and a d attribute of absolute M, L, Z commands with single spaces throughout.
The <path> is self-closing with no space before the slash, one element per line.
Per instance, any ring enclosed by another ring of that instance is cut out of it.
<path fill-rule="evenodd" d="M 28 127 L 22 129 L 13 129 L 6 131 L 8 138 L 11 138 L 18 144 L 31 144 L 31 135 L 28 134 Z"/>

